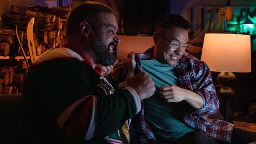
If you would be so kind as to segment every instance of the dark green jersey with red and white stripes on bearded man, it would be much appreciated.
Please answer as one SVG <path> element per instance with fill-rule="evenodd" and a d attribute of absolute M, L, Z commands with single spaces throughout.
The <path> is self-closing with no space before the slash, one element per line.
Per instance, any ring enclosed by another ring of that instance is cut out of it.
<path fill-rule="evenodd" d="M 122 143 L 107 137 L 140 111 L 131 87 L 115 89 L 78 51 L 63 45 L 40 55 L 24 83 L 20 142 Z"/>

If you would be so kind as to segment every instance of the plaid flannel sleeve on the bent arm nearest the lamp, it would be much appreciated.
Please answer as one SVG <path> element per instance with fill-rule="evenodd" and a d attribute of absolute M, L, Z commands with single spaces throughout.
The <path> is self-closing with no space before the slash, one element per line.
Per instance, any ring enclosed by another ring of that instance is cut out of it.
<path fill-rule="evenodd" d="M 193 92 L 199 94 L 203 99 L 203 107 L 195 110 L 192 114 L 213 115 L 219 109 L 219 99 L 212 81 L 209 67 L 203 61 L 191 72 L 191 84 Z"/>

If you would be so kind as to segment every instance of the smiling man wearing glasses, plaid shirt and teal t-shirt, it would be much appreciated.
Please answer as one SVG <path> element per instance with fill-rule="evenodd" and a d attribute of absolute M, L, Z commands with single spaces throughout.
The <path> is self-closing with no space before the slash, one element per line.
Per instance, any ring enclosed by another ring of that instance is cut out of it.
<path fill-rule="evenodd" d="M 143 54 L 131 52 L 106 76 L 113 85 L 138 72 L 151 76 L 155 93 L 133 119 L 141 144 L 225 144 L 231 136 L 236 142 L 233 124 L 208 118 L 218 111 L 219 100 L 208 66 L 185 52 L 189 29 L 180 15 L 160 18 L 154 46 Z"/>

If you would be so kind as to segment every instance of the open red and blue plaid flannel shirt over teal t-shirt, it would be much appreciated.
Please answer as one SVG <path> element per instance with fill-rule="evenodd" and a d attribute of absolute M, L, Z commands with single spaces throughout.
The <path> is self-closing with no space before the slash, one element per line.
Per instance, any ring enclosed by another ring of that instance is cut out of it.
<path fill-rule="evenodd" d="M 149 48 L 144 54 L 137 53 L 135 56 L 136 72 L 141 72 L 141 59 L 149 60 L 153 58 L 154 46 Z M 219 109 L 219 100 L 216 96 L 215 87 L 212 81 L 211 72 L 205 62 L 188 55 L 182 56 L 175 66 L 180 87 L 193 91 L 203 99 L 203 107 L 194 109 L 185 114 L 185 123 L 194 129 L 205 132 L 211 138 L 221 141 L 231 142 L 231 134 L 234 125 L 222 120 L 209 119 L 208 115 L 215 114 Z M 127 67 L 124 61 L 119 62 L 113 71 L 107 76 L 112 85 L 124 82 L 127 75 Z M 155 136 L 144 118 L 144 103 L 141 101 L 142 109 L 134 117 L 135 121 L 140 121 L 136 125 L 139 140 L 142 144 L 156 144 Z"/>

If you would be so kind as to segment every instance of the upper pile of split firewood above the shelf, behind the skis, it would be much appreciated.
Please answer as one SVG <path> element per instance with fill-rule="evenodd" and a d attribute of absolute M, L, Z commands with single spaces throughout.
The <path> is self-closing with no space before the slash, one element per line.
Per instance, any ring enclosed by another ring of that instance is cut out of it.
<path fill-rule="evenodd" d="M 34 22 L 34 43 L 37 55 L 39 56 L 49 48 L 58 48 L 65 43 L 65 22 L 68 13 L 71 11 L 71 6 L 47 8 L 47 7 L 19 7 L 12 5 L 10 12 L 3 15 L 3 23 L 9 29 L 15 28 L 15 23 L 20 15 L 17 29 L 23 32 L 22 47 L 26 55 L 28 52 L 28 40 L 26 35 L 27 25 L 29 21 L 35 17 Z M 1 30 L 0 30 L 1 31 Z M 1 32 L 0 32 L 1 33 Z M 14 33 L 15 34 L 15 33 Z M 1 36 L 1 34 L 0 34 Z M 15 35 L 12 35 L 15 36 Z M 2 44 L 2 45 L 1 45 Z M 0 55 L 6 55 L 7 52 L 4 48 L 8 49 L 7 44 L 0 41 Z M 17 47 L 17 46 L 16 46 Z M 10 51 L 11 48 L 9 47 Z M 17 48 L 15 52 L 21 55 L 20 48 Z M 4 53 L 5 52 L 5 53 Z M 14 52 L 14 53 L 15 53 Z"/>

